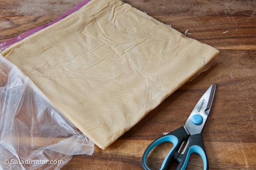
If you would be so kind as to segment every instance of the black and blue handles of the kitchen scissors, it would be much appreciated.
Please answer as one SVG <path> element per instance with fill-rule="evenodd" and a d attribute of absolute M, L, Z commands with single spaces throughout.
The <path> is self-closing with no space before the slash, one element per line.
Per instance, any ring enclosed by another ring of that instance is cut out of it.
<path fill-rule="evenodd" d="M 181 144 L 185 140 L 189 141 L 187 149 L 183 154 L 180 154 L 178 153 L 178 150 L 180 149 Z M 189 162 L 189 157 L 192 153 L 198 153 L 201 156 L 204 163 L 204 170 L 208 170 L 208 160 L 204 149 L 202 135 L 188 135 L 183 126 L 179 127 L 178 129 L 172 131 L 169 134 L 158 138 L 147 147 L 142 156 L 142 168 L 144 170 L 150 170 L 146 165 L 146 159 L 150 151 L 164 142 L 171 142 L 173 144 L 173 147 L 165 157 L 160 170 L 169 169 L 173 161 L 178 162 L 176 170 L 185 170 L 187 167 L 187 163 Z"/>

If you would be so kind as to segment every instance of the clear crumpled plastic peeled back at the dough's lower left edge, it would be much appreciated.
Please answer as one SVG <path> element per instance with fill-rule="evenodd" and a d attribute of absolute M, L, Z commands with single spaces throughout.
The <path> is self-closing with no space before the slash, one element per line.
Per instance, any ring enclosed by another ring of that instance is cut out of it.
<path fill-rule="evenodd" d="M 94 144 L 0 55 L 0 169 L 59 169 Z"/>

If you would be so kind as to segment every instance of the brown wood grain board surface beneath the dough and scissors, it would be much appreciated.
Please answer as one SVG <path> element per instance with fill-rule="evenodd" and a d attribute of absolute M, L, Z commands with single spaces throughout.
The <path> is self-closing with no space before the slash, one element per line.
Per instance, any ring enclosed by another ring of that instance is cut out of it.
<path fill-rule="evenodd" d="M 0 0 L 0 42 L 58 18 L 81 0 Z M 125 0 L 187 36 L 220 50 L 215 65 L 187 82 L 126 132 L 93 156 L 73 156 L 62 169 L 141 169 L 146 147 L 182 126 L 198 99 L 217 83 L 202 132 L 210 169 L 256 169 L 256 1 Z M 223 33 L 229 31 L 227 33 Z M 170 145 L 150 155 L 159 168 Z M 192 155 L 187 169 L 202 169 Z"/>

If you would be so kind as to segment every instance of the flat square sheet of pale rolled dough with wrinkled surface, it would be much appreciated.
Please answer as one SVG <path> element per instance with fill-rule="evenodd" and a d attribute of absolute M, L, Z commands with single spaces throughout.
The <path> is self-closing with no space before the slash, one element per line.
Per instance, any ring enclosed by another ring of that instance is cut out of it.
<path fill-rule="evenodd" d="M 120 0 L 91 0 L 2 55 L 105 149 L 218 53 Z"/>

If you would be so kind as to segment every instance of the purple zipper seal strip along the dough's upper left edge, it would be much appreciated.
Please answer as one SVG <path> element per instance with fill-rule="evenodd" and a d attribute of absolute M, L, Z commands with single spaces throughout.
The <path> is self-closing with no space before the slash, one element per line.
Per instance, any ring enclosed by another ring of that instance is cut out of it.
<path fill-rule="evenodd" d="M 0 43 L 0 52 L 3 52 L 3 50 L 5 50 L 6 48 L 10 47 L 12 44 L 18 43 L 21 40 L 23 40 L 24 38 L 58 22 L 59 20 L 62 20 L 63 18 L 67 17 L 70 14 L 73 14 L 74 12 L 78 11 L 80 8 L 82 8 L 84 5 L 86 5 L 88 2 L 90 2 L 91 0 L 83 0 L 82 2 L 80 2 L 78 5 L 74 6 L 73 8 L 69 9 L 69 11 L 65 12 L 64 14 L 62 14 L 59 18 L 57 18 L 56 20 L 45 24 L 43 26 L 39 26 L 33 29 L 30 29 L 22 34 L 20 34 L 19 36 L 16 36 L 14 38 L 8 39 L 6 41 L 3 41 L 2 43 Z"/>

